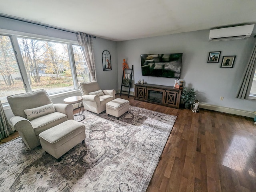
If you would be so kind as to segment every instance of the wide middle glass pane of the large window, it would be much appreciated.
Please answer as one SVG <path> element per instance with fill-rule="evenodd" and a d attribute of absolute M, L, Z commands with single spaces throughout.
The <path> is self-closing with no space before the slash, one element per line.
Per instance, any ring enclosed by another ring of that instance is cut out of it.
<path fill-rule="evenodd" d="M 31 89 L 48 94 L 74 89 L 68 45 L 18 38 Z"/>

